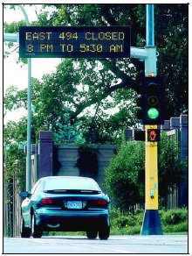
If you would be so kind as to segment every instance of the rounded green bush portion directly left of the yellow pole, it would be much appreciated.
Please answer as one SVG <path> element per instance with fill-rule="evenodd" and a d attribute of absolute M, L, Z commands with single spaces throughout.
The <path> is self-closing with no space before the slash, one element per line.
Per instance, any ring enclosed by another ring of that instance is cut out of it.
<path fill-rule="evenodd" d="M 123 211 L 131 210 L 135 203 L 142 202 L 144 174 L 143 143 L 123 142 L 106 167 L 106 184 L 116 207 Z"/>

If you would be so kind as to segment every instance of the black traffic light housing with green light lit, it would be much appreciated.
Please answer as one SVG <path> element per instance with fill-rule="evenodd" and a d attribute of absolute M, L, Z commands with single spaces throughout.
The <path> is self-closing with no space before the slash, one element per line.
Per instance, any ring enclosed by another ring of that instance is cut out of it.
<path fill-rule="evenodd" d="M 137 117 L 141 124 L 164 124 L 164 94 L 161 80 L 157 77 L 141 76 L 137 92 L 141 95 L 137 99 L 140 110 Z"/>

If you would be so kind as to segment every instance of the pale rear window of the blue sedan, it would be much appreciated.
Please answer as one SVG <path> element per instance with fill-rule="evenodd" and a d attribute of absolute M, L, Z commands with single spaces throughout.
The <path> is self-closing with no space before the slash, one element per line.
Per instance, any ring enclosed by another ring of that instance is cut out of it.
<path fill-rule="evenodd" d="M 51 190 L 90 190 L 100 191 L 96 181 L 80 177 L 51 177 L 45 178 L 44 191 Z"/>

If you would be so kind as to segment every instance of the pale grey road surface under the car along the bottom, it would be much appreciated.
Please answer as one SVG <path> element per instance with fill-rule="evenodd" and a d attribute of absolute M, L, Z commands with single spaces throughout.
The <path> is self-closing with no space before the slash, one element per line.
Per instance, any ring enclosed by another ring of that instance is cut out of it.
<path fill-rule="evenodd" d="M 188 236 L 3 238 L 3 253 L 188 253 Z"/>

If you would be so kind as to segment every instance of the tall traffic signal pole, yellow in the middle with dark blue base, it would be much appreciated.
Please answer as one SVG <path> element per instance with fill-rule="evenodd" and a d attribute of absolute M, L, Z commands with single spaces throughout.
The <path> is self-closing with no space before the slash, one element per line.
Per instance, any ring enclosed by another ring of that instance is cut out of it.
<path fill-rule="evenodd" d="M 156 76 L 156 47 L 154 46 L 154 4 L 147 4 L 147 59 L 145 76 Z M 158 158 L 157 142 L 147 139 L 147 130 L 157 129 L 157 124 L 145 125 L 145 214 L 141 235 L 161 235 L 161 220 L 158 211 Z"/>

